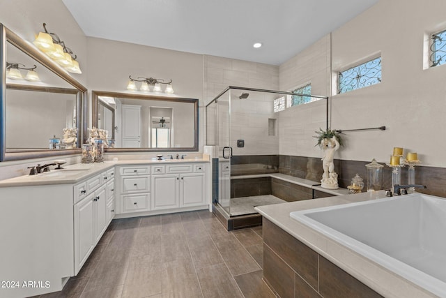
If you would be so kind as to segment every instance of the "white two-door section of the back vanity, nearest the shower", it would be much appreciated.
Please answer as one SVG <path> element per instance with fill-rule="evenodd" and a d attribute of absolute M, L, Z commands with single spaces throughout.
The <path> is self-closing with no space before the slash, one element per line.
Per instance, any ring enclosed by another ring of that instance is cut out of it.
<path fill-rule="evenodd" d="M 160 165 L 152 172 L 152 209 L 206 204 L 206 164 Z"/>

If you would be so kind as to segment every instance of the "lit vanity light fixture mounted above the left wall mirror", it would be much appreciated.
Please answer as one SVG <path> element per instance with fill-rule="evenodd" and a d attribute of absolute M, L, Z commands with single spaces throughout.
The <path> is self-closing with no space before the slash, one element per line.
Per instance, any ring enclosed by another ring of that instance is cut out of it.
<path fill-rule="evenodd" d="M 79 62 L 76 61 L 77 56 L 72 50 L 66 47 L 56 33 L 47 31 L 47 24 L 43 23 L 43 29 L 45 29 L 45 32 L 38 33 L 36 40 L 33 42 L 34 45 L 70 73 L 82 73 Z"/>

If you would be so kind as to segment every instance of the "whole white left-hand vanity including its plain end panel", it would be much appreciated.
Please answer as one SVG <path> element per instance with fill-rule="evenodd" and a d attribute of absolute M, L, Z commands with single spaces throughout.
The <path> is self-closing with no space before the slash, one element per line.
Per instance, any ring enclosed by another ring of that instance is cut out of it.
<path fill-rule="evenodd" d="M 50 287 L 21 284 L 21 288 L 1 289 L 0 297 L 59 291 L 70 276 L 78 274 L 111 220 L 107 207 L 114 210 L 114 166 L 91 168 L 86 170 L 91 174 L 80 180 L 55 178 L 54 170 L 2 181 L 0 280 L 40 281 Z"/>

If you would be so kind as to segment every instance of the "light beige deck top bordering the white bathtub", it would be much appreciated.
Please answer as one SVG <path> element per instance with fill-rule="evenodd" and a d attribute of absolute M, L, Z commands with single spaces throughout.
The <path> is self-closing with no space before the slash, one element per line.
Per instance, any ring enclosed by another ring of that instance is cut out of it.
<path fill-rule="evenodd" d="M 327 236 L 316 232 L 307 225 L 295 221 L 290 217 L 290 212 L 314 209 L 319 207 L 328 207 L 336 204 L 347 204 L 351 202 L 360 202 L 366 200 L 376 200 L 376 198 L 385 198 L 384 191 L 373 193 L 359 193 L 355 195 L 339 195 L 336 197 L 320 198 L 317 200 L 303 200 L 298 202 L 288 202 L 283 204 L 273 204 L 255 209 L 277 225 L 282 230 L 288 232 L 296 239 L 312 248 L 314 251 L 323 255 L 335 265 L 344 269 L 362 283 L 376 290 L 384 297 L 433 297 L 429 292 L 423 290 L 410 281 L 394 274 L 392 271 L 380 267 L 364 256 L 351 251 Z M 379 199 L 377 199 L 379 200 Z M 403 200 L 403 198 L 401 198 Z"/>

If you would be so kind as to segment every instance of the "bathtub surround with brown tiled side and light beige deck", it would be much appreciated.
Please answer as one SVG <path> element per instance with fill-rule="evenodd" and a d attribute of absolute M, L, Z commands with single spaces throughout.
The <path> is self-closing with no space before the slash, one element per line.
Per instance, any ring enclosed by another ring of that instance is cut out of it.
<path fill-rule="evenodd" d="M 384 195 L 378 192 L 379 198 Z M 291 211 L 366 200 L 372 200 L 369 193 L 256 208 L 264 218 L 263 277 L 275 292 L 281 297 L 436 297 L 290 217 Z"/>

